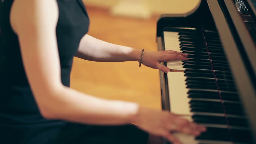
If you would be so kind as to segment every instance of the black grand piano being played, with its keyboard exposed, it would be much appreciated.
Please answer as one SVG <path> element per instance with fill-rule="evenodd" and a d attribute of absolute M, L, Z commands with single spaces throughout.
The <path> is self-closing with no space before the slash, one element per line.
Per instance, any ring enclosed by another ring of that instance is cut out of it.
<path fill-rule="evenodd" d="M 184 144 L 256 143 L 255 0 L 200 0 L 191 11 L 163 14 L 158 50 L 187 53 L 160 71 L 162 109 L 205 125 Z M 163 140 L 163 143 L 168 143 Z"/>

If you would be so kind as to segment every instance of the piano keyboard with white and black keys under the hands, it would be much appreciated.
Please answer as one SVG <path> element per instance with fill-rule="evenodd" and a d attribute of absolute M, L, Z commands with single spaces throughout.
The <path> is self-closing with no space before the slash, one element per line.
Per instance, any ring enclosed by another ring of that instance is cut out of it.
<path fill-rule="evenodd" d="M 170 111 L 205 125 L 198 137 L 175 133 L 184 144 L 249 144 L 251 134 L 218 34 L 212 31 L 164 32 L 165 49 L 188 54 L 168 61 Z"/>

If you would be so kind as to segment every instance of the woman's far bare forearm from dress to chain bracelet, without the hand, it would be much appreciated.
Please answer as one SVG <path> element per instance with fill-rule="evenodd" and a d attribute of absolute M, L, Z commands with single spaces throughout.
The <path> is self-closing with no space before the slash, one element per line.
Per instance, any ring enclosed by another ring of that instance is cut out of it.
<path fill-rule="evenodd" d="M 80 41 L 76 57 L 90 61 L 121 62 L 139 61 L 140 54 L 140 49 L 111 44 L 86 34 Z"/>

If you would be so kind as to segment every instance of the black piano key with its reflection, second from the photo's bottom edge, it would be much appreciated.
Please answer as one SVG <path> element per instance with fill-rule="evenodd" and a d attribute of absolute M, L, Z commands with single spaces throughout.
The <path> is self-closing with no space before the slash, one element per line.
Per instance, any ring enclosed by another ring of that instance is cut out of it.
<path fill-rule="evenodd" d="M 224 116 L 206 116 L 206 115 L 193 115 L 192 119 L 197 123 L 220 124 L 230 126 L 248 127 L 246 118 L 224 117 Z"/>

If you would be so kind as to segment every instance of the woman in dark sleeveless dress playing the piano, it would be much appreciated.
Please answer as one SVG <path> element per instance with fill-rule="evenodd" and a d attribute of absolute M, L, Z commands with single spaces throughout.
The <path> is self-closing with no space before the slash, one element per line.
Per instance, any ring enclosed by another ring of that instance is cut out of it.
<path fill-rule="evenodd" d="M 5 0 L 1 18 L 0 143 L 146 143 L 147 133 L 180 143 L 170 131 L 205 131 L 167 111 L 69 88 L 73 56 L 139 61 L 168 72 L 160 62 L 187 55 L 142 52 L 87 35 L 82 0 Z"/>

